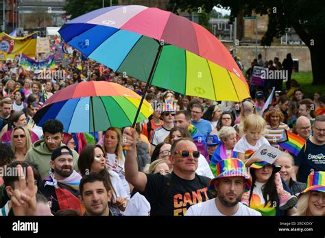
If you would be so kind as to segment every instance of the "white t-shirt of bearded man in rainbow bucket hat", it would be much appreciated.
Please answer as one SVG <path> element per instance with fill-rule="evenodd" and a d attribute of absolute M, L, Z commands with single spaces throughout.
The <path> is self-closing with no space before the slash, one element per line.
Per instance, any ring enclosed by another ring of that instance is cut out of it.
<path fill-rule="evenodd" d="M 224 215 L 217 209 L 217 205 L 215 204 L 215 199 L 208 200 L 206 202 L 197 203 L 189 208 L 186 211 L 185 215 Z M 239 204 L 239 209 L 234 215 L 261 215 L 258 211 L 246 207 L 241 202 Z"/>

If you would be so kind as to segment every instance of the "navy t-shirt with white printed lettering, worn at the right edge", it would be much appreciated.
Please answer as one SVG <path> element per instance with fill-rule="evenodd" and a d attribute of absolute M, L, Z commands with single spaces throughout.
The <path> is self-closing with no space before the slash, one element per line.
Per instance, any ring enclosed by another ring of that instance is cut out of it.
<path fill-rule="evenodd" d="M 299 166 L 298 181 L 306 183 L 311 172 L 325 171 L 325 144 L 317 146 L 310 139 L 306 140 L 304 147 L 295 159 L 296 166 Z"/>

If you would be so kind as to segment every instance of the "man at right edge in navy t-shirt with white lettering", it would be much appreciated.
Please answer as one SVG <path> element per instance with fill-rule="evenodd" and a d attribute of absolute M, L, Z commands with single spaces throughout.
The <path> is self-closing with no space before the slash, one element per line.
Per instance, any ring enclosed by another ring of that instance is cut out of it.
<path fill-rule="evenodd" d="M 315 118 L 313 136 L 306 140 L 296 157 L 295 171 L 302 183 L 306 183 L 311 172 L 325 171 L 325 116 Z"/>

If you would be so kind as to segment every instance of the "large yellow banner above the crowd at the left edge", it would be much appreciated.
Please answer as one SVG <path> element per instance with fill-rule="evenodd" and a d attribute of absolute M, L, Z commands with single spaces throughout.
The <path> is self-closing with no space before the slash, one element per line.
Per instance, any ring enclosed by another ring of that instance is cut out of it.
<path fill-rule="evenodd" d="M 4 32 L 0 33 L 0 55 L 5 55 L 6 59 L 14 59 L 14 57 L 24 53 L 28 57 L 36 55 L 36 36 L 37 32 L 25 37 L 12 37 Z"/>

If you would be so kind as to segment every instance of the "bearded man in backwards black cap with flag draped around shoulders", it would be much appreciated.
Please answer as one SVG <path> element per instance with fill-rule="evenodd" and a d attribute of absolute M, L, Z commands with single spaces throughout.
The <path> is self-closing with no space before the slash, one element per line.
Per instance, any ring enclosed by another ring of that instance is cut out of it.
<path fill-rule="evenodd" d="M 82 176 L 73 170 L 73 153 L 60 146 L 51 155 L 51 174 L 45 178 L 40 191 L 51 201 L 51 211 L 72 209 L 81 214 L 79 183 Z"/>

